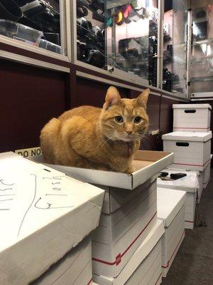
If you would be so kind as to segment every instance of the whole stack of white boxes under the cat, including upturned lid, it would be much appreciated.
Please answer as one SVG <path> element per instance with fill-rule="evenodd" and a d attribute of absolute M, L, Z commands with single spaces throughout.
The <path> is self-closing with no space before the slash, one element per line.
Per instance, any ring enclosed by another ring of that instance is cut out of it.
<path fill-rule="evenodd" d="M 92 237 L 93 278 L 99 285 L 161 283 L 164 226 L 157 219 L 156 175 L 173 163 L 173 154 L 138 151 L 133 163 L 131 174 L 49 165 L 106 191 Z"/>

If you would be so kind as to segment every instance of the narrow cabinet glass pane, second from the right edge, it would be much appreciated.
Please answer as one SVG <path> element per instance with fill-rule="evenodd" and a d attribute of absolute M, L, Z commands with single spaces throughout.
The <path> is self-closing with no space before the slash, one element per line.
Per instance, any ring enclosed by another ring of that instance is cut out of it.
<path fill-rule="evenodd" d="M 163 23 L 163 89 L 187 93 L 187 1 L 165 1 Z"/>

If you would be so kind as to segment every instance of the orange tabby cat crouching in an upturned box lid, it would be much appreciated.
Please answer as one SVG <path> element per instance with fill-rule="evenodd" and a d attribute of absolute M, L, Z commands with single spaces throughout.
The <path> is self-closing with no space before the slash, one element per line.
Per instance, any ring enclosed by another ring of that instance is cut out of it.
<path fill-rule="evenodd" d="M 133 172 L 133 154 L 148 126 L 149 92 L 121 99 L 119 91 L 110 87 L 102 109 L 82 106 L 50 120 L 40 134 L 45 162 Z"/>

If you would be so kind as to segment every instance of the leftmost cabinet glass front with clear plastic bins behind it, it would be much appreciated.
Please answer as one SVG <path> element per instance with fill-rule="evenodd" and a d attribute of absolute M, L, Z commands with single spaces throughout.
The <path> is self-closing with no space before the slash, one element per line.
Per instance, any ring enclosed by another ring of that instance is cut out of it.
<path fill-rule="evenodd" d="M 1 0 L 0 35 L 64 55 L 63 5 L 60 0 Z"/>

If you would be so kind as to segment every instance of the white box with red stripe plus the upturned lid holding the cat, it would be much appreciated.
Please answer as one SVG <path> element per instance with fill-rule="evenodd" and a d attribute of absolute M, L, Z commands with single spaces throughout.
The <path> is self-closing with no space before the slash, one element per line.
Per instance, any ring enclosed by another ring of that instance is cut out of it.
<path fill-rule="evenodd" d="M 33 160 L 41 162 L 43 158 L 33 157 Z M 118 276 L 147 237 L 157 221 L 153 176 L 172 162 L 173 154 L 168 152 L 140 150 L 133 161 L 136 171 L 131 174 L 49 165 L 107 190 L 100 227 L 92 244 L 95 274 Z M 153 182 L 148 182 L 149 179 Z"/>

